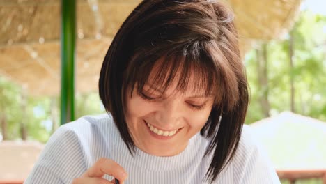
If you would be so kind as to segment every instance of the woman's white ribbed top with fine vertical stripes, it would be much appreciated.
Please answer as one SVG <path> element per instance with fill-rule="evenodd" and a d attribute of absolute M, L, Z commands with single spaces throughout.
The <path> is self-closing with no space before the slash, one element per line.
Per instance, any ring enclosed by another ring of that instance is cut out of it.
<path fill-rule="evenodd" d="M 157 157 L 137 149 L 132 156 L 111 116 L 84 116 L 56 130 L 25 183 L 72 183 L 99 158 L 118 162 L 127 171 L 126 184 L 205 183 L 212 156 L 203 158 L 207 146 L 208 140 L 197 134 L 178 155 Z M 247 125 L 235 157 L 215 183 L 280 183 Z"/>

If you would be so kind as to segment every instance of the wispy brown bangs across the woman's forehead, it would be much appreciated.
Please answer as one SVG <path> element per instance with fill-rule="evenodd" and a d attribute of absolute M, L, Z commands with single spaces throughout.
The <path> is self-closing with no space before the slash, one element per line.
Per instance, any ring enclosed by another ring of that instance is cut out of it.
<path fill-rule="evenodd" d="M 189 49 L 189 48 L 188 48 Z M 134 86 L 137 92 L 143 91 L 143 86 L 150 84 L 160 89 L 162 94 L 166 89 L 173 86 L 174 91 L 185 93 L 192 91 L 192 94 L 199 96 L 213 96 L 215 102 L 221 96 L 217 86 L 217 70 L 211 58 L 205 52 L 174 52 L 164 54 L 162 57 L 139 56 L 133 59 L 130 66 L 134 72 L 126 72 L 131 75 L 127 78 L 127 86 L 131 93 Z"/>

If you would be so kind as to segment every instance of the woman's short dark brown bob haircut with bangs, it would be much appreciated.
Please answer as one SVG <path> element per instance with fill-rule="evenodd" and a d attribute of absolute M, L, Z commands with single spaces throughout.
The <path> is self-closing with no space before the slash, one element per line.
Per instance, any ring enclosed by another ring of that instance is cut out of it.
<path fill-rule="evenodd" d="M 205 156 L 213 154 L 205 179 L 215 181 L 233 158 L 249 98 L 233 17 L 230 8 L 214 0 L 145 0 L 123 22 L 104 58 L 99 91 L 131 154 L 135 149 L 125 122 L 125 89 L 136 85 L 141 93 L 163 58 L 153 79 L 162 89 L 179 76 L 177 88 L 183 91 L 193 75 L 198 89 L 215 95 L 201 130 L 210 138 Z"/>

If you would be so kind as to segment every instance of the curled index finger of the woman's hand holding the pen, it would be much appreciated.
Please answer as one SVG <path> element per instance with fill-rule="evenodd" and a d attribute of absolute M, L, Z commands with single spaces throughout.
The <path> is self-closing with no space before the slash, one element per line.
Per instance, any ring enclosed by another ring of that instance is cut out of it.
<path fill-rule="evenodd" d="M 95 162 L 93 167 L 86 171 L 84 177 L 102 178 L 104 174 L 109 174 L 110 176 L 117 178 L 119 181 L 124 181 L 127 178 L 125 169 L 123 169 L 123 167 L 121 167 L 118 163 L 107 158 L 100 158 L 97 162 Z"/>

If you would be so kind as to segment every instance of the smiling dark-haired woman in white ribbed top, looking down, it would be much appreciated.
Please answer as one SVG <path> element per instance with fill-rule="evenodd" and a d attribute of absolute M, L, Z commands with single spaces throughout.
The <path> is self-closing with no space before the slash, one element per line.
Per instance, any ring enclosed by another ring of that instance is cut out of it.
<path fill-rule="evenodd" d="M 99 90 L 108 114 L 59 128 L 26 183 L 279 183 L 243 126 L 247 79 L 219 1 L 142 1 Z"/>

